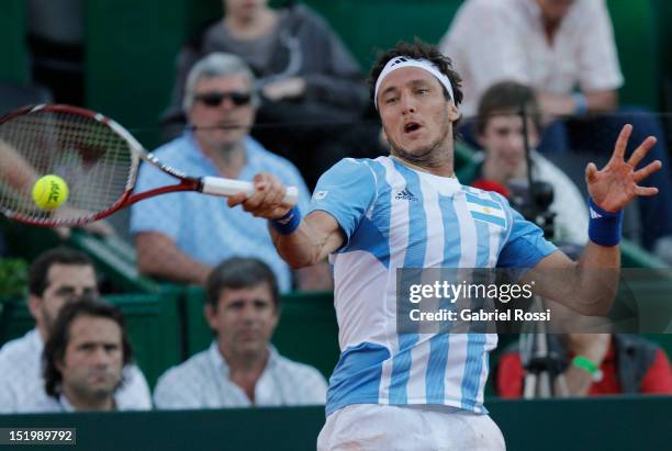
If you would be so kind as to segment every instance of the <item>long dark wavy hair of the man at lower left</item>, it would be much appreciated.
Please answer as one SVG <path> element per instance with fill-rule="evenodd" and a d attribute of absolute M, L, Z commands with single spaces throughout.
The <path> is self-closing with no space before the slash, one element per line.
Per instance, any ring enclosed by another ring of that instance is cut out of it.
<path fill-rule="evenodd" d="M 124 367 L 133 361 L 133 348 L 128 340 L 126 322 L 122 312 L 102 300 L 80 297 L 79 300 L 64 305 L 54 323 L 49 338 L 44 345 L 42 365 L 44 373 L 44 387 L 49 396 L 58 396 L 63 382 L 63 374 L 58 371 L 56 363 L 63 362 L 65 352 L 70 341 L 70 326 L 80 316 L 111 319 L 119 325 L 122 332 L 122 351 Z M 120 386 L 123 384 L 120 383 Z"/>

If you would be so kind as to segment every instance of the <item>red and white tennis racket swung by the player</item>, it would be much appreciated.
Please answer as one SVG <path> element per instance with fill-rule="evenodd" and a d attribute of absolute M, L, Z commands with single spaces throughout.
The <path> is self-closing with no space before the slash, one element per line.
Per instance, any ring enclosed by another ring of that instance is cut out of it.
<path fill-rule="evenodd" d="M 133 193 L 141 161 L 156 166 L 178 183 Z M 32 187 L 56 174 L 69 189 L 67 202 L 40 210 Z M 229 196 L 251 195 L 251 182 L 189 177 L 160 162 L 124 127 L 104 115 L 69 105 L 25 106 L 0 119 L 0 213 L 22 223 L 78 226 L 110 216 L 135 202 L 165 193 L 197 191 Z M 283 202 L 295 204 L 296 187 Z"/>

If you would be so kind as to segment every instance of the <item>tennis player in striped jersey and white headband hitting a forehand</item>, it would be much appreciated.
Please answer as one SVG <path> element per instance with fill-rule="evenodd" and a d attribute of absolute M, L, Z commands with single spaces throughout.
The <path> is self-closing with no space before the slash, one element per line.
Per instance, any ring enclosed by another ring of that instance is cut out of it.
<path fill-rule="evenodd" d="M 284 187 L 268 173 L 255 178 L 257 193 L 228 203 L 270 219 L 273 243 L 292 267 L 327 256 L 333 264 L 341 354 L 320 450 L 503 450 L 483 406 L 496 335 L 397 334 L 396 269 L 564 269 L 564 280 L 538 280 L 537 294 L 582 314 L 605 314 L 612 290 L 589 273 L 613 269 L 615 286 L 621 210 L 657 193 L 638 182 L 661 162 L 635 169 L 656 139 L 624 160 L 626 125 L 606 167 L 587 166 L 591 241 L 574 262 L 504 198 L 455 178 L 462 93 L 449 58 L 421 42 L 400 43 L 372 68 L 371 87 L 389 157 L 335 165 L 320 179 L 304 218 L 281 203 Z"/>

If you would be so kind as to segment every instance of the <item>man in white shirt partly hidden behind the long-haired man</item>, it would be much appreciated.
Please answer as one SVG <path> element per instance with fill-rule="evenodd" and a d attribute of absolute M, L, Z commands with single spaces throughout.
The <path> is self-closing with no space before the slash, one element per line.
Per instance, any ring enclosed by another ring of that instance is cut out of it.
<path fill-rule="evenodd" d="M 29 290 L 29 309 L 36 327 L 0 348 L 0 413 L 41 411 L 52 404 L 42 376 L 44 342 L 64 305 L 98 295 L 96 271 L 86 253 L 54 248 L 31 266 Z M 115 396 L 117 404 L 128 409 L 150 408 L 149 388 L 139 369 L 125 365 L 124 380 Z"/>

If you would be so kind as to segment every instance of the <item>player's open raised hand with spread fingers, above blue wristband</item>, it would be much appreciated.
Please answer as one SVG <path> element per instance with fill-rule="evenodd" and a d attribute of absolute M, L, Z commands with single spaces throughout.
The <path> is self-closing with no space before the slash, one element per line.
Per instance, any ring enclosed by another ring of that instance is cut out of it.
<path fill-rule="evenodd" d="M 656 160 L 636 170 L 637 165 L 656 145 L 656 138 L 653 136 L 647 137 L 626 161 L 624 156 L 630 133 L 632 133 L 632 125 L 626 124 L 621 128 L 618 139 L 616 139 L 612 159 L 602 170 L 597 170 L 593 162 L 585 168 L 589 193 L 593 202 L 607 212 L 623 210 L 636 196 L 658 194 L 658 188 L 640 187 L 638 183 L 662 168 L 662 162 Z"/>

